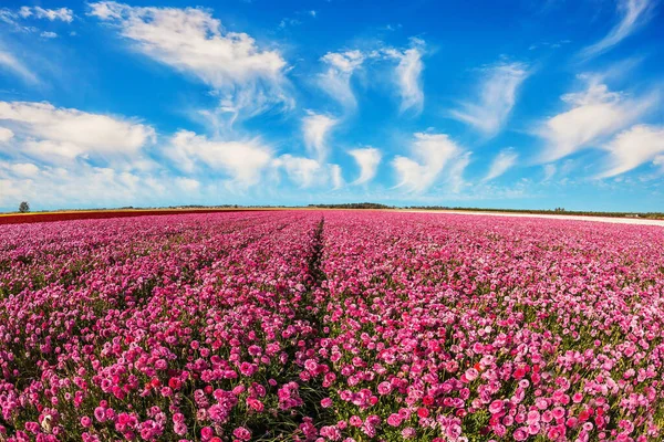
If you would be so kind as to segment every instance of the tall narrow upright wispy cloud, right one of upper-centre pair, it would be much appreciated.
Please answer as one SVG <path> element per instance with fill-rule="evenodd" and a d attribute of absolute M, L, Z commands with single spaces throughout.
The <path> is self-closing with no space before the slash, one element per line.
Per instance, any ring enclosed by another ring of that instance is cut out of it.
<path fill-rule="evenodd" d="M 400 110 L 403 113 L 412 109 L 415 113 L 421 113 L 424 107 L 424 92 L 422 90 L 424 41 L 414 38 L 411 39 L 411 49 L 404 52 L 387 50 L 386 54 L 398 60 L 395 74 L 402 99 Z"/>

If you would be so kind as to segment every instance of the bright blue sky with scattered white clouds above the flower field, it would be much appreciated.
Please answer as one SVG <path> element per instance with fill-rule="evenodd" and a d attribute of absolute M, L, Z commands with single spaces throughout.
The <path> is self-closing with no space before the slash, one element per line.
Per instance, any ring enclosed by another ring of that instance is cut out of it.
<path fill-rule="evenodd" d="M 664 211 L 663 9 L 3 1 L 0 210 Z"/>

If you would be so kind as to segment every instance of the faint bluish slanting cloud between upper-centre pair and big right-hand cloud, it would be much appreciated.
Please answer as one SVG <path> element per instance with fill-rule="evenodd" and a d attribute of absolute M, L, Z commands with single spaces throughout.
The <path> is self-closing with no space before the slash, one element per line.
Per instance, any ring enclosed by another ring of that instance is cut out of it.
<path fill-rule="evenodd" d="M 484 74 L 477 99 L 463 103 L 452 115 L 492 137 L 507 123 L 528 70 L 522 63 L 509 63 L 486 69 Z"/>

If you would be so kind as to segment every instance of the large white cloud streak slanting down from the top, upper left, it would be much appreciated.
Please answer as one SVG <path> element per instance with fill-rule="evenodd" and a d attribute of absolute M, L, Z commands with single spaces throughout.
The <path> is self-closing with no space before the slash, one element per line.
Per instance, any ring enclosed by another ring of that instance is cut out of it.
<path fill-rule="evenodd" d="M 250 115 L 292 101 L 284 92 L 287 62 L 242 32 L 228 32 L 204 9 L 139 8 L 113 1 L 90 4 L 90 14 L 111 23 L 134 49 L 193 75 L 221 95 L 221 106 Z"/>

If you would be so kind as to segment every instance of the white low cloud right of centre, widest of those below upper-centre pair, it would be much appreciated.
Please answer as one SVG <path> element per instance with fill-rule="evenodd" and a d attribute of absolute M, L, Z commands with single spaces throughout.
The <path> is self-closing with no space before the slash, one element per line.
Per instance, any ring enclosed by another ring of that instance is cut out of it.
<path fill-rule="evenodd" d="M 397 187 L 421 193 L 429 189 L 448 167 L 449 173 L 444 181 L 450 182 L 453 190 L 463 186 L 463 172 L 470 161 L 470 152 L 464 151 L 445 134 L 415 134 L 411 146 L 413 158 L 397 156 L 392 161 L 398 183 Z"/>

